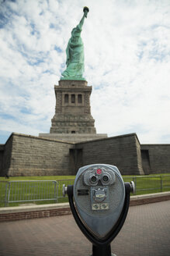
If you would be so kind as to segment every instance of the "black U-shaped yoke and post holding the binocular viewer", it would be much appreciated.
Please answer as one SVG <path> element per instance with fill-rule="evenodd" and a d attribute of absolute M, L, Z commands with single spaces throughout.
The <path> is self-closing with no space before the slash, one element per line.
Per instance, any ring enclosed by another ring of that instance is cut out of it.
<path fill-rule="evenodd" d="M 130 192 L 133 191 L 132 184 L 124 183 L 124 186 L 125 186 L 125 201 L 123 204 L 123 210 L 121 212 L 120 218 L 116 222 L 116 225 L 113 227 L 109 235 L 104 240 L 96 238 L 95 236 L 92 235 L 92 233 L 88 231 L 88 229 L 86 229 L 85 225 L 82 223 L 82 220 L 78 216 L 78 213 L 75 209 L 75 204 L 73 201 L 73 185 L 68 185 L 67 187 L 67 194 L 68 194 L 69 204 L 71 207 L 71 212 L 75 218 L 75 222 L 77 223 L 79 229 L 82 230 L 82 233 L 84 233 L 87 239 L 92 243 L 92 256 L 112 256 L 113 255 L 111 253 L 110 243 L 116 237 L 116 235 L 120 232 L 120 229 L 122 228 L 123 223 L 125 222 L 125 219 L 127 217 L 127 212 L 129 209 L 129 204 L 130 204 Z"/>

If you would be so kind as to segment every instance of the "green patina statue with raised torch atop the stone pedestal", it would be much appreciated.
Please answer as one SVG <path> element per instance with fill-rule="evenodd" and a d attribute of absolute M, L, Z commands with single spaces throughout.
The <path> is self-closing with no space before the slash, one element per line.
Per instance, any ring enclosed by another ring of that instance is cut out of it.
<path fill-rule="evenodd" d="M 66 65 L 67 69 L 64 70 L 61 75 L 61 80 L 85 80 L 83 78 L 84 72 L 84 46 L 82 42 L 81 32 L 85 18 L 87 18 L 88 7 L 84 7 L 82 20 L 71 31 L 71 38 L 68 41 L 68 47 L 66 49 Z"/>

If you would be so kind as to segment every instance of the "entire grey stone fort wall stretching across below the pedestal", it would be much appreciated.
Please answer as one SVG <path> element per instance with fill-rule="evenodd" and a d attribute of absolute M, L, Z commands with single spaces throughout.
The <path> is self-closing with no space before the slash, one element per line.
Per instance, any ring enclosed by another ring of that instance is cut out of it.
<path fill-rule="evenodd" d="M 140 144 L 135 133 L 79 143 L 12 133 L 0 145 L 0 176 L 75 175 L 83 165 L 116 165 L 122 175 L 170 172 L 170 144 Z"/>

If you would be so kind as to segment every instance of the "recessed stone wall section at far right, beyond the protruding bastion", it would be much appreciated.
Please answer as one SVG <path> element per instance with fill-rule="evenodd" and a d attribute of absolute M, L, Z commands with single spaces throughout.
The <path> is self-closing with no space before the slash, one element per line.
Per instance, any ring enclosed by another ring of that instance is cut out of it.
<path fill-rule="evenodd" d="M 144 172 L 170 172 L 170 144 L 142 144 L 141 155 Z"/>

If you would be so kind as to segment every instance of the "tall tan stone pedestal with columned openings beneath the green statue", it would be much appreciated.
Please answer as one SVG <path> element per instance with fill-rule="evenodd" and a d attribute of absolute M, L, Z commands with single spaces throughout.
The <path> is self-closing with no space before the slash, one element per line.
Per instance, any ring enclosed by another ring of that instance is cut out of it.
<path fill-rule="evenodd" d="M 40 137 L 71 142 L 107 137 L 106 134 L 96 134 L 90 107 L 92 86 L 88 86 L 87 81 L 60 80 L 54 91 L 56 107 L 50 134 L 40 133 Z"/>

